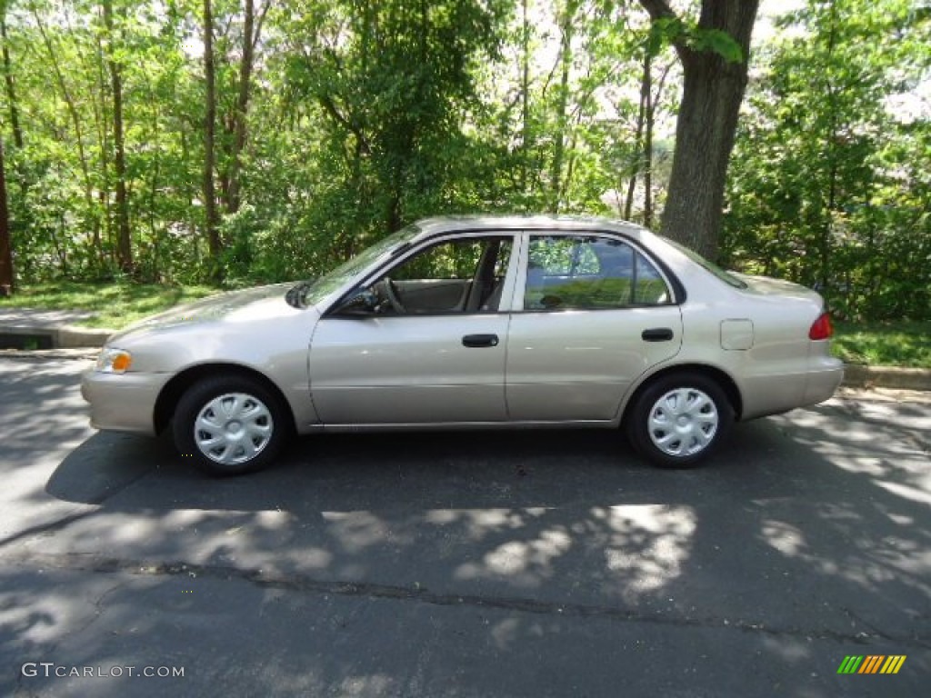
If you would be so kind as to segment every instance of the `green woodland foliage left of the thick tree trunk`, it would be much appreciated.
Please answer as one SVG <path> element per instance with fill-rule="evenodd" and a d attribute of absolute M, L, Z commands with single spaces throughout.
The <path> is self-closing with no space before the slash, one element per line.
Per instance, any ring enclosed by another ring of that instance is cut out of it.
<path fill-rule="evenodd" d="M 110 59 L 122 78 L 139 281 L 206 280 L 217 265 L 228 286 L 317 275 L 416 218 L 608 212 L 605 191 L 626 181 L 627 162 L 624 172 L 615 163 L 634 150 L 631 107 L 617 101 L 606 119 L 604 106 L 609 92 L 636 88 L 652 34 L 625 4 L 532 0 L 524 27 L 511 0 L 257 0 L 262 32 L 236 163 L 243 8 L 211 4 L 217 260 L 202 201 L 202 3 L 112 0 L 112 26 L 90 0 L 7 10 L 15 91 L 2 109 L 19 112 L 25 136 L 21 148 L 7 144 L 21 281 L 121 275 Z M 564 85 L 549 73 L 554 46 Z M 530 65 L 525 86 L 511 70 L 517 52 Z M 226 202 L 234 165 L 235 207 Z"/>

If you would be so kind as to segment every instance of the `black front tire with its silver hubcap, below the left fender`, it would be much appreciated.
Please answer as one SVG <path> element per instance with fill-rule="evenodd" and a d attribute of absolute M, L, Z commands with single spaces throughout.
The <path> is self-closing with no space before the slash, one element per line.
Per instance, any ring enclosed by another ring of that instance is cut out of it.
<path fill-rule="evenodd" d="M 268 466 L 291 430 L 287 409 L 275 394 L 254 378 L 233 375 L 188 388 L 175 409 L 172 431 L 182 460 L 225 477 Z"/>

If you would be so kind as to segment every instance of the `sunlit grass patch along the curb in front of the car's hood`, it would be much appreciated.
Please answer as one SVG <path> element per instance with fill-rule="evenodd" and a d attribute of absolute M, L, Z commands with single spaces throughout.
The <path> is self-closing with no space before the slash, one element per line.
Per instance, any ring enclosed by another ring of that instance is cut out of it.
<path fill-rule="evenodd" d="M 208 286 L 55 281 L 20 287 L 13 297 L 0 298 L 0 309 L 83 310 L 94 315 L 75 324 L 89 328 L 123 329 L 147 315 L 155 315 L 174 305 L 196 301 L 216 292 L 217 289 Z"/>

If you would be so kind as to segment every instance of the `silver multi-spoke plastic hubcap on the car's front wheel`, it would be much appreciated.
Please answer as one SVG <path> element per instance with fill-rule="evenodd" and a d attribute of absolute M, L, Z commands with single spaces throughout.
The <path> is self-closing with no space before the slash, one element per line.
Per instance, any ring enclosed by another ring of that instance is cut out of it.
<path fill-rule="evenodd" d="M 262 400 L 228 393 L 214 397 L 197 414 L 194 441 L 211 461 L 235 465 L 259 455 L 274 428 L 272 413 Z"/>

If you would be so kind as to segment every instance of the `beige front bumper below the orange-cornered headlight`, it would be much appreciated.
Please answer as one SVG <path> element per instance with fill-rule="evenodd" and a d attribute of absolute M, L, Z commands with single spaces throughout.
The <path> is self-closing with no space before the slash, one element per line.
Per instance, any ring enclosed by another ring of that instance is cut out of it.
<path fill-rule="evenodd" d="M 155 401 L 171 375 L 88 369 L 81 375 L 81 396 L 90 403 L 90 425 L 155 436 Z"/>

